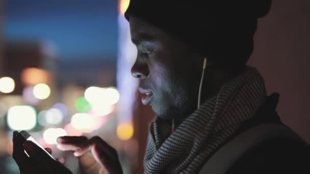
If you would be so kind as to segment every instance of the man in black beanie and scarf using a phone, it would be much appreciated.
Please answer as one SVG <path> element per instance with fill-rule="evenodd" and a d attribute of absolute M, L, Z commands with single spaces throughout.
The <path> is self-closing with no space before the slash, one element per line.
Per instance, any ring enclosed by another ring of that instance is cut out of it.
<path fill-rule="evenodd" d="M 297 135 L 269 131 L 281 125 L 275 111 L 278 95 L 267 96 L 262 76 L 245 66 L 257 18 L 270 5 L 268 0 L 131 1 L 125 16 L 138 49 L 132 75 L 140 80 L 142 103 L 157 114 L 149 128 L 145 173 L 306 169 L 308 145 Z M 65 136 L 58 142 L 59 149 L 79 157 L 82 173 L 122 173 L 116 151 L 99 137 Z M 58 162 L 44 161 L 30 141 L 24 148 L 39 167 L 25 165 L 23 148 L 14 147 L 21 171 L 69 173 Z"/>

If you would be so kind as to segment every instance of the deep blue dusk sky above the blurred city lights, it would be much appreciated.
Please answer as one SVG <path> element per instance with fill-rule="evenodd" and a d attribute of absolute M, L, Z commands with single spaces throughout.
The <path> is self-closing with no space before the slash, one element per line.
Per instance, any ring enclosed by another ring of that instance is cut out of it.
<path fill-rule="evenodd" d="M 117 1 L 5 0 L 8 40 L 48 41 L 61 59 L 113 59 L 117 54 Z"/>

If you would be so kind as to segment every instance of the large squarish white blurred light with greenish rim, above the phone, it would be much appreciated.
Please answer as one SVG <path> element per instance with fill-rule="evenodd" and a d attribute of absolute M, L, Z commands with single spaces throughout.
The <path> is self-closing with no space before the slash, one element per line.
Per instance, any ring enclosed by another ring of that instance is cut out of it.
<path fill-rule="evenodd" d="M 36 110 L 32 106 L 13 106 L 8 110 L 7 123 L 12 130 L 30 130 L 36 122 Z"/>

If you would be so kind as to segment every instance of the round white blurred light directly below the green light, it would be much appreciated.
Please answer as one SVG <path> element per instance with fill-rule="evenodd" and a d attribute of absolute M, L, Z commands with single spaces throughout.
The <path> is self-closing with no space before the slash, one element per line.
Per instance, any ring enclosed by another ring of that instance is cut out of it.
<path fill-rule="evenodd" d="M 81 129 L 86 132 L 91 132 L 95 126 L 95 120 L 88 113 L 75 113 L 71 118 L 71 125 L 76 129 Z"/>

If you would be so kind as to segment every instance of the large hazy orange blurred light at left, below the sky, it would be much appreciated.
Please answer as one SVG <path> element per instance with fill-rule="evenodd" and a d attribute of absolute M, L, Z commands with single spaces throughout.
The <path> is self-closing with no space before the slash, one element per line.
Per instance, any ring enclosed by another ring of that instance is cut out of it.
<path fill-rule="evenodd" d="M 21 72 L 21 81 L 27 86 L 47 83 L 49 78 L 49 73 L 40 68 L 25 68 Z"/>

